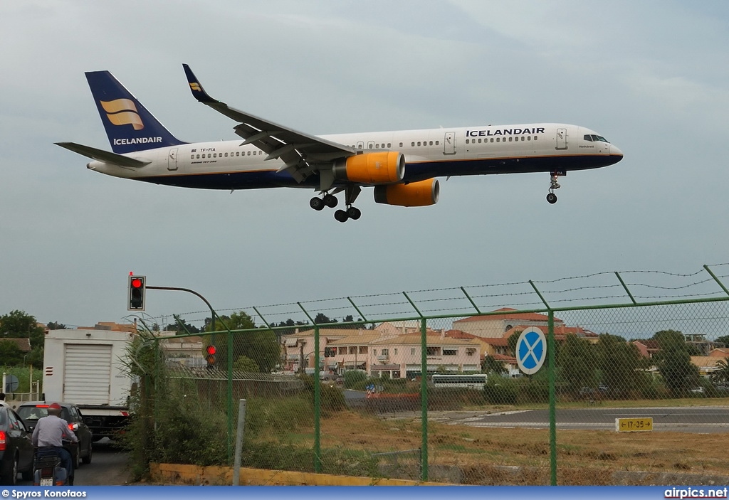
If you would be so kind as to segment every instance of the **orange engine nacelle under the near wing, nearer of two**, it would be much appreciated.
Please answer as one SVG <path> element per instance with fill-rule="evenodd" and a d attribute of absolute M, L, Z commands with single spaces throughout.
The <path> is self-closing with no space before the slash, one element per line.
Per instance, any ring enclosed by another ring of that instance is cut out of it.
<path fill-rule="evenodd" d="M 335 162 L 334 178 L 363 184 L 388 184 L 402 180 L 405 156 L 397 151 L 364 153 Z"/>

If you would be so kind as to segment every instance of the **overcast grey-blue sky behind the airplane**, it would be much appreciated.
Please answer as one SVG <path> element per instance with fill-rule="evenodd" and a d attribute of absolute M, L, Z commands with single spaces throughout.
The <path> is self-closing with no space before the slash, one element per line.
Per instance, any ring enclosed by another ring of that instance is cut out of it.
<path fill-rule="evenodd" d="M 729 262 L 729 2 L 23 0 L 0 19 L 0 314 L 125 322 L 130 271 L 253 314 Z M 181 140 L 237 138 L 182 63 L 214 98 L 303 132 L 563 122 L 625 158 L 571 172 L 556 205 L 547 173 L 444 178 L 437 205 L 377 205 L 367 189 L 342 224 L 309 190 L 138 183 L 53 144 L 110 149 L 96 70 Z M 205 310 L 147 294 L 153 318 Z"/>

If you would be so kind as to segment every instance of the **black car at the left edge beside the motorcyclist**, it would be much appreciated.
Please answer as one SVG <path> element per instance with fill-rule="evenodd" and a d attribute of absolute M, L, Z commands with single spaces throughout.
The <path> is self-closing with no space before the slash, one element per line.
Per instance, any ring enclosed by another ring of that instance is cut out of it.
<path fill-rule="evenodd" d="M 33 478 L 31 432 L 8 405 L 0 405 L 0 482 L 15 485 L 17 473 Z"/>

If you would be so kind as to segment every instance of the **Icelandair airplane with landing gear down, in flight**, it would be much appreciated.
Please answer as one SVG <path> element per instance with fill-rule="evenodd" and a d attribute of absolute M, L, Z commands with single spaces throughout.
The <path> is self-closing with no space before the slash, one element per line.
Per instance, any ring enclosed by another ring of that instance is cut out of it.
<path fill-rule="evenodd" d="M 354 202 L 373 187 L 375 202 L 434 205 L 438 177 L 549 172 L 547 202 L 557 202 L 558 177 L 620 162 L 623 152 L 603 136 L 570 124 L 536 123 L 392 132 L 310 135 L 211 98 L 182 65 L 193 97 L 238 122 L 243 140 L 185 143 L 174 137 L 109 71 L 86 79 L 112 151 L 78 143 L 58 146 L 92 159 L 89 170 L 114 177 L 198 189 L 297 187 L 318 195 L 314 210 L 338 205 L 335 219 L 362 215 Z"/>

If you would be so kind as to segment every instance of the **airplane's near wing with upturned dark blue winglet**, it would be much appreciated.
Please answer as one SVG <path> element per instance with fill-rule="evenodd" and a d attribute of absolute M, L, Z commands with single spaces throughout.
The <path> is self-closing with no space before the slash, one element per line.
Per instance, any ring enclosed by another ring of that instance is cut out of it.
<path fill-rule="evenodd" d="M 289 127 L 238 111 L 226 103 L 211 98 L 195 74 L 192 73 L 190 66 L 187 64 L 182 66 L 195 99 L 236 122 L 240 122 L 235 127 L 235 133 L 245 139 L 241 146 L 253 144 L 268 154 L 267 160 L 281 159 L 285 166 L 281 167 L 279 172 L 288 171 L 297 182 L 301 182 L 320 170 L 324 174 L 322 178 L 330 178 L 331 175 L 327 175 L 327 173 L 331 170 L 333 160 L 356 154 L 356 151 L 349 146 L 297 132 Z M 329 188 L 330 186 L 326 186 L 322 182 L 322 190 Z"/>

